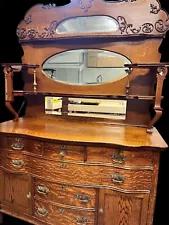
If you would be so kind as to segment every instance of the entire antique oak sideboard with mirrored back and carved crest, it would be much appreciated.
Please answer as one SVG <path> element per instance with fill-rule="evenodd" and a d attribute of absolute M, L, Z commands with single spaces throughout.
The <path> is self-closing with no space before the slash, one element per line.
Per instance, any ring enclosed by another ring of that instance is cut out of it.
<path fill-rule="evenodd" d="M 5 213 L 37 225 L 153 224 L 168 147 L 154 127 L 168 27 L 156 0 L 72 0 L 26 13 L 23 64 L 2 64 L 14 119 L 0 124 L 1 222 Z M 23 91 L 13 90 L 18 71 Z M 15 96 L 27 99 L 22 118 Z"/>

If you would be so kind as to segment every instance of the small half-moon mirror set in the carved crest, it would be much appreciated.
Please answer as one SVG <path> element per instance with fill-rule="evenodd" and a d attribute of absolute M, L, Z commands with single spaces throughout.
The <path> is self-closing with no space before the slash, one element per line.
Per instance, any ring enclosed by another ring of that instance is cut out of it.
<path fill-rule="evenodd" d="M 62 21 L 56 28 L 57 34 L 115 32 L 118 22 L 109 16 L 85 16 L 69 18 Z"/>

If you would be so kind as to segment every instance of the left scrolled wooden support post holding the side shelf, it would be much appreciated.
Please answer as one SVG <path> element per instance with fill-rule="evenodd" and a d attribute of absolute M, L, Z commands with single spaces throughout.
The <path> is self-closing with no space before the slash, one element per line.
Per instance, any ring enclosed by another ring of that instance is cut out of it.
<path fill-rule="evenodd" d="M 18 121 L 19 119 L 18 113 L 15 111 L 15 109 L 11 104 L 14 101 L 12 68 L 9 66 L 5 67 L 4 74 L 5 74 L 5 105 L 7 109 L 14 115 L 14 121 Z"/>

